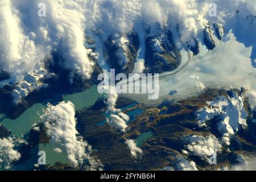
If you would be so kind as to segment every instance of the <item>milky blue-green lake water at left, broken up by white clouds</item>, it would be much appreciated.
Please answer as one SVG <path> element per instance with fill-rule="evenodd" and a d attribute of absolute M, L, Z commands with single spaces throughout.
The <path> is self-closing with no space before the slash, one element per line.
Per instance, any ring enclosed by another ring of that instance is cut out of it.
<path fill-rule="evenodd" d="M 79 110 L 84 107 L 93 105 L 101 97 L 102 96 L 97 92 L 97 86 L 94 85 L 84 92 L 63 96 L 63 101 L 71 101 L 75 105 L 75 109 Z M 34 123 L 40 122 L 40 115 L 43 113 L 44 109 L 46 109 L 45 105 L 34 104 L 16 119 L 9 119 L 6 118 L 4 114 L 0 114 L 0 124 L 3 125 L 6 129 L 11 130 L 11 135 L 22 137 L 23 135 L 29 133 Z M 57 147 L 61 148 L 61 146 Z M 26 163 L 20 164 L 19 166 L 14 167 L 14 169 L 21 170 L 30 169 L 33 167 L 39 158 L 38 151 L 46 151 L 46 162 L 47 164 L 50 164 L 50 166 L 56 162 L 68 163 L 67 155 L 64 153 L 56 153 L 53 151 L 53 148 L 56 148 L 56 146 L 50 143 L 38 144 L 36 148 L 33 148 L 30 151 L 32 157 L 28 159 Z"/>

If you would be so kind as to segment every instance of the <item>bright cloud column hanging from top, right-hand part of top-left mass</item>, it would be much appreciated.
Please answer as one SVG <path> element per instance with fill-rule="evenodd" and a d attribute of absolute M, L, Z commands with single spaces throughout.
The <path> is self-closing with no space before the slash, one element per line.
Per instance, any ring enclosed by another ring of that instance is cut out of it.
<path fill-rule="evenodd" d="M 90 49 L 84 46 L 85 3 L 82 1 L 48 1 L 51 11 L 51 28 L 56 30 L 53 40 L 57 40 L 57 47 L 64 57 L 65 68 L 90 78 L 94 63 L 89 60 Z M 59 13 L 55 13 L 59 12 Z M 51 30 L 52 31 L 52 30 Z"/>

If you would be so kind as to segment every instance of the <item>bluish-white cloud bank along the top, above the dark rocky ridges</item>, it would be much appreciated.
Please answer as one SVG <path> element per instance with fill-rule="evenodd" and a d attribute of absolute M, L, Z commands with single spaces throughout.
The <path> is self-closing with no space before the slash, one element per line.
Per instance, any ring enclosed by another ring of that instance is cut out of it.
<path fill-rule="evenodd" d="M 201 37 L 201 32 L 207 23 L 229 22 L 236 14 L 236 9 L 243 3 L 241 0 L 214 1 L 217 4 L 217 17 L 210 17 L 209 1 L 196 0 L 90 0 L 86 4 L 86 24 L 95 30 L 101 30 L 105 35 L 122 34 L 131 31 L 134 24 L 144 22 L 151 27 L 175 27 L 179 24 L 181 39 L 191 40 L 191 34 Z M 255 12 L 255 1 L 247 1 L 246 10 Z"/>

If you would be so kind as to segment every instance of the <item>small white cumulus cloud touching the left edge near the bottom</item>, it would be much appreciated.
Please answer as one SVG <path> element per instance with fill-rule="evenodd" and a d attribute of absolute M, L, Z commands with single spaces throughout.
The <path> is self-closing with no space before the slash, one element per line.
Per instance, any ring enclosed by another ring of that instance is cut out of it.
<path fill-rule="evenodd" d="M 15 150 L 19 143 L 23 143 L 23 140 L 11 137 L 0 139 L 0 168 L 10 169 L 11 163 L 20 159 L 20 153 Z"/>

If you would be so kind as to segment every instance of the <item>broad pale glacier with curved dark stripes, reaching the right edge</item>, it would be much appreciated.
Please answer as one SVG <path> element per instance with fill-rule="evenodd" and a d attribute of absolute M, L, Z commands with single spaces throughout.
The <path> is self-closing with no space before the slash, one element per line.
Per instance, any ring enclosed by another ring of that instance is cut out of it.
<path fill-rule="evenodd" d="M 203 45 L 199 44 L 199 48 L 202 53 L 207 52 Z M 256 89 L 256 69 L 251 66 L 250 60 L 251 47 L 245 47 L 238 42 L 232 31 L 217 44 L 216 48 L 205 55 L 199 53 L 190 58 L 184 49 L 180 52 L 183 57 L 180 67 L 159 74 L 160 92 L 155 104 L 160 104 L 165 99 L 182 100 L 196 96 L 207 88 Z M 171 90 L 176 90 L 177 93 L 170 96 Z M 122 96 L 144 104 L 152 104 L 147 100 L 146 95 L 122 94 Z"/>

